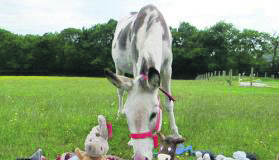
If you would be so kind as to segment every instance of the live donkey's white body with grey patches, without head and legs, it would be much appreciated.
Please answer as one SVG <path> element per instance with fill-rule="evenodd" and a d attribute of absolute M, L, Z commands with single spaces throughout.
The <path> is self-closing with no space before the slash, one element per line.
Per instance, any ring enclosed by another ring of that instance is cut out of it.
<path fill-rule="evenodd" d="M 143 59 L 159 72 L 163 65 L 171 65 L 171 34 L 155 6 L 147 5 L 118 22 L 112 56 L 120 75 L 139 75 Z"/>

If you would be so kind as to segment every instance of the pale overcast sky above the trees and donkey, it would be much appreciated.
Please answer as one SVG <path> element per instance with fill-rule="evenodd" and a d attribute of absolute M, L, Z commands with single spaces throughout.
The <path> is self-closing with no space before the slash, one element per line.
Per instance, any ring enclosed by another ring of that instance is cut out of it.
<path fill-rule="evenodd" d="M 172 27 L 185 21 L 204 29 L 224 20 L 240 30 L 279 32 L 279 0 L 0 0 L 0 28 L 40 35 L 89 28 L 146 4 L 156 5 Z"/>

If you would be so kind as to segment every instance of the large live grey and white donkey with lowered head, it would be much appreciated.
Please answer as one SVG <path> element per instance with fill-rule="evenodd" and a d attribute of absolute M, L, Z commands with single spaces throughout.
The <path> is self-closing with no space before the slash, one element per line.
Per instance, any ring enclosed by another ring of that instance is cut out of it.
<path fill-rule="evenodd" d="M 106 77 L 118 88 L 118 116 L 125 113 L 132 134 L 154 128 L 160 112 L 159 87 L 171 93 L 172 37 L 161 12 L 147 5 L 117 24 L 112 42 L 116 74 L 105 70 Z M 124 74 L 133 74 L 133 79 Z M 128 92 L 123 108 L 123 93 Z M 175 136 L 180 136 L 173 113 L 173 101 L 166 97 L 166 111 Z M 161 118 L 162 119 L 162 118 Z M 152 138 L 131 139 L 135 159 L 152 159 Z"/>

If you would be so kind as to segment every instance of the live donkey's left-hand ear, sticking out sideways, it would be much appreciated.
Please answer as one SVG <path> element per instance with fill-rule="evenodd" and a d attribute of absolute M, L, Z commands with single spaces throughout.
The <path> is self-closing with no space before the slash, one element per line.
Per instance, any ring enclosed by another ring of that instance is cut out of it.
<path fill-rule="evenodd" d="M 117 88 L 130 90 L 133 86 L 132 79 L 125 76 L 116 75 L 108 69 L 105 69 L 105 76 Z"/>

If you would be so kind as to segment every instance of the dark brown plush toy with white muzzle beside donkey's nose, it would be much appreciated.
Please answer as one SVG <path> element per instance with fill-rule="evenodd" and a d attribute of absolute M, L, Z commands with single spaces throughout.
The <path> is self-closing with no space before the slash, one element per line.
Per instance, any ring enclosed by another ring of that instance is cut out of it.
<path fill-rule="evenodd" d="M 174 160 L 176 147 L 178 144 L 183 143 L 185 140 L 179 137 L 168 136 L 165 137 L 162 133 L 159 133 L 161 139 L 160 151 L 158 152 L 159 160 Z"/>

